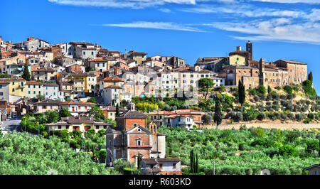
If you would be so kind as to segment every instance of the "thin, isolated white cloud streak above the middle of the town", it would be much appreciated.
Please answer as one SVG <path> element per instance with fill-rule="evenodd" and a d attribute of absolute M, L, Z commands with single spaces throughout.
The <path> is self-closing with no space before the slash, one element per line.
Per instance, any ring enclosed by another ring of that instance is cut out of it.
<path fill-rule="evenodd" d="M 192 31 L 192 32 L 206 32 L 199 28 L 187 26 L 187 24 L 173 23 L 173 22 L 149 22 L 149 21 L 136 21 L 132 23 L 106 23 L 99 26 L 121 27 L 121 28 L 151 28 L 160 30 L 173 30 L 173 31 Z"/>

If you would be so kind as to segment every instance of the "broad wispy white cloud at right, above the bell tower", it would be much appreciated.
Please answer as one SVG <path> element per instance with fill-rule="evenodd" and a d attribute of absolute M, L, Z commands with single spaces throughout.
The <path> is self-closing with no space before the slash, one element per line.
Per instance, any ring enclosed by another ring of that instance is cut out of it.
<path fill-rule="evenodd" d="M 225 31 L 250 34 L 234 38 L 255 41 L 287 41 L 320 45 L 320 24 L 313 22 L 292 23 L 288 18 L 275 18 L 268 21 L 255 20 L 249 23 L 215 22 L 206 24 Z"/>

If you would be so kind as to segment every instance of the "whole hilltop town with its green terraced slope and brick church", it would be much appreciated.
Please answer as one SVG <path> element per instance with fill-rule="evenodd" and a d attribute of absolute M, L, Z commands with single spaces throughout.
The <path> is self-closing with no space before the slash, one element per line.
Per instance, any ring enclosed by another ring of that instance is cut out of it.
<path fill-rule="evenodd" d="M 166 149 L 174 146 L 165 128 L 201 133 L 221 123 L 320 120 L 307 64 L 253 60 L 253 53 L 248 41 L 245 50 L 237 46 L 228 57 L 189 65 L 174 55 L 122 53 L 97 43 L 51 44 L 33 37 L 13 43 L 0 37 L 2 125 L 21 119 L 14 129 L 57 135 L 92 154 L 95 149 L 83 140 L 97 134 L 105 138 L 105 146 L 96 147 L 105 148 L 106 166 L 124 159 L 144 174 L 181 174 L 186 160 Z"/>

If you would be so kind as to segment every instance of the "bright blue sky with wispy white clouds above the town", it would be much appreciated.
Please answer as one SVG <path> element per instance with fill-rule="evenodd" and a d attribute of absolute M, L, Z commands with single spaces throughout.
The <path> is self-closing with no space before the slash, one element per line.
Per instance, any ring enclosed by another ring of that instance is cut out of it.
<path fill-rule="evenodd" d="M 308 63 L 320 92 L 320 0 L 1 0 L 0 11 L 4 41 L 86 41 L 191 65 L 250 40 L 255 60 Z"/>

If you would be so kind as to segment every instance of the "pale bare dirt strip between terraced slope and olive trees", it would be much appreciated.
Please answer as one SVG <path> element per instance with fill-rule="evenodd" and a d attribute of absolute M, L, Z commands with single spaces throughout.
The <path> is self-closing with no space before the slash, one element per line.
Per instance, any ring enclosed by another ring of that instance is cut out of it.
<path fill-rule="evenodd" d="M 240 126 L 246 125 L 247 128 L 250 127 L 261 127 L 266 129 L 320 129 L 319 123 L 314 124 L 285 124 L 285 123 L 233 123 L 233 124 L 220 124 L 218 129 L 240 129 Z M 206 125 L 207 129 L 215 129 L 215 125 Z"/>

